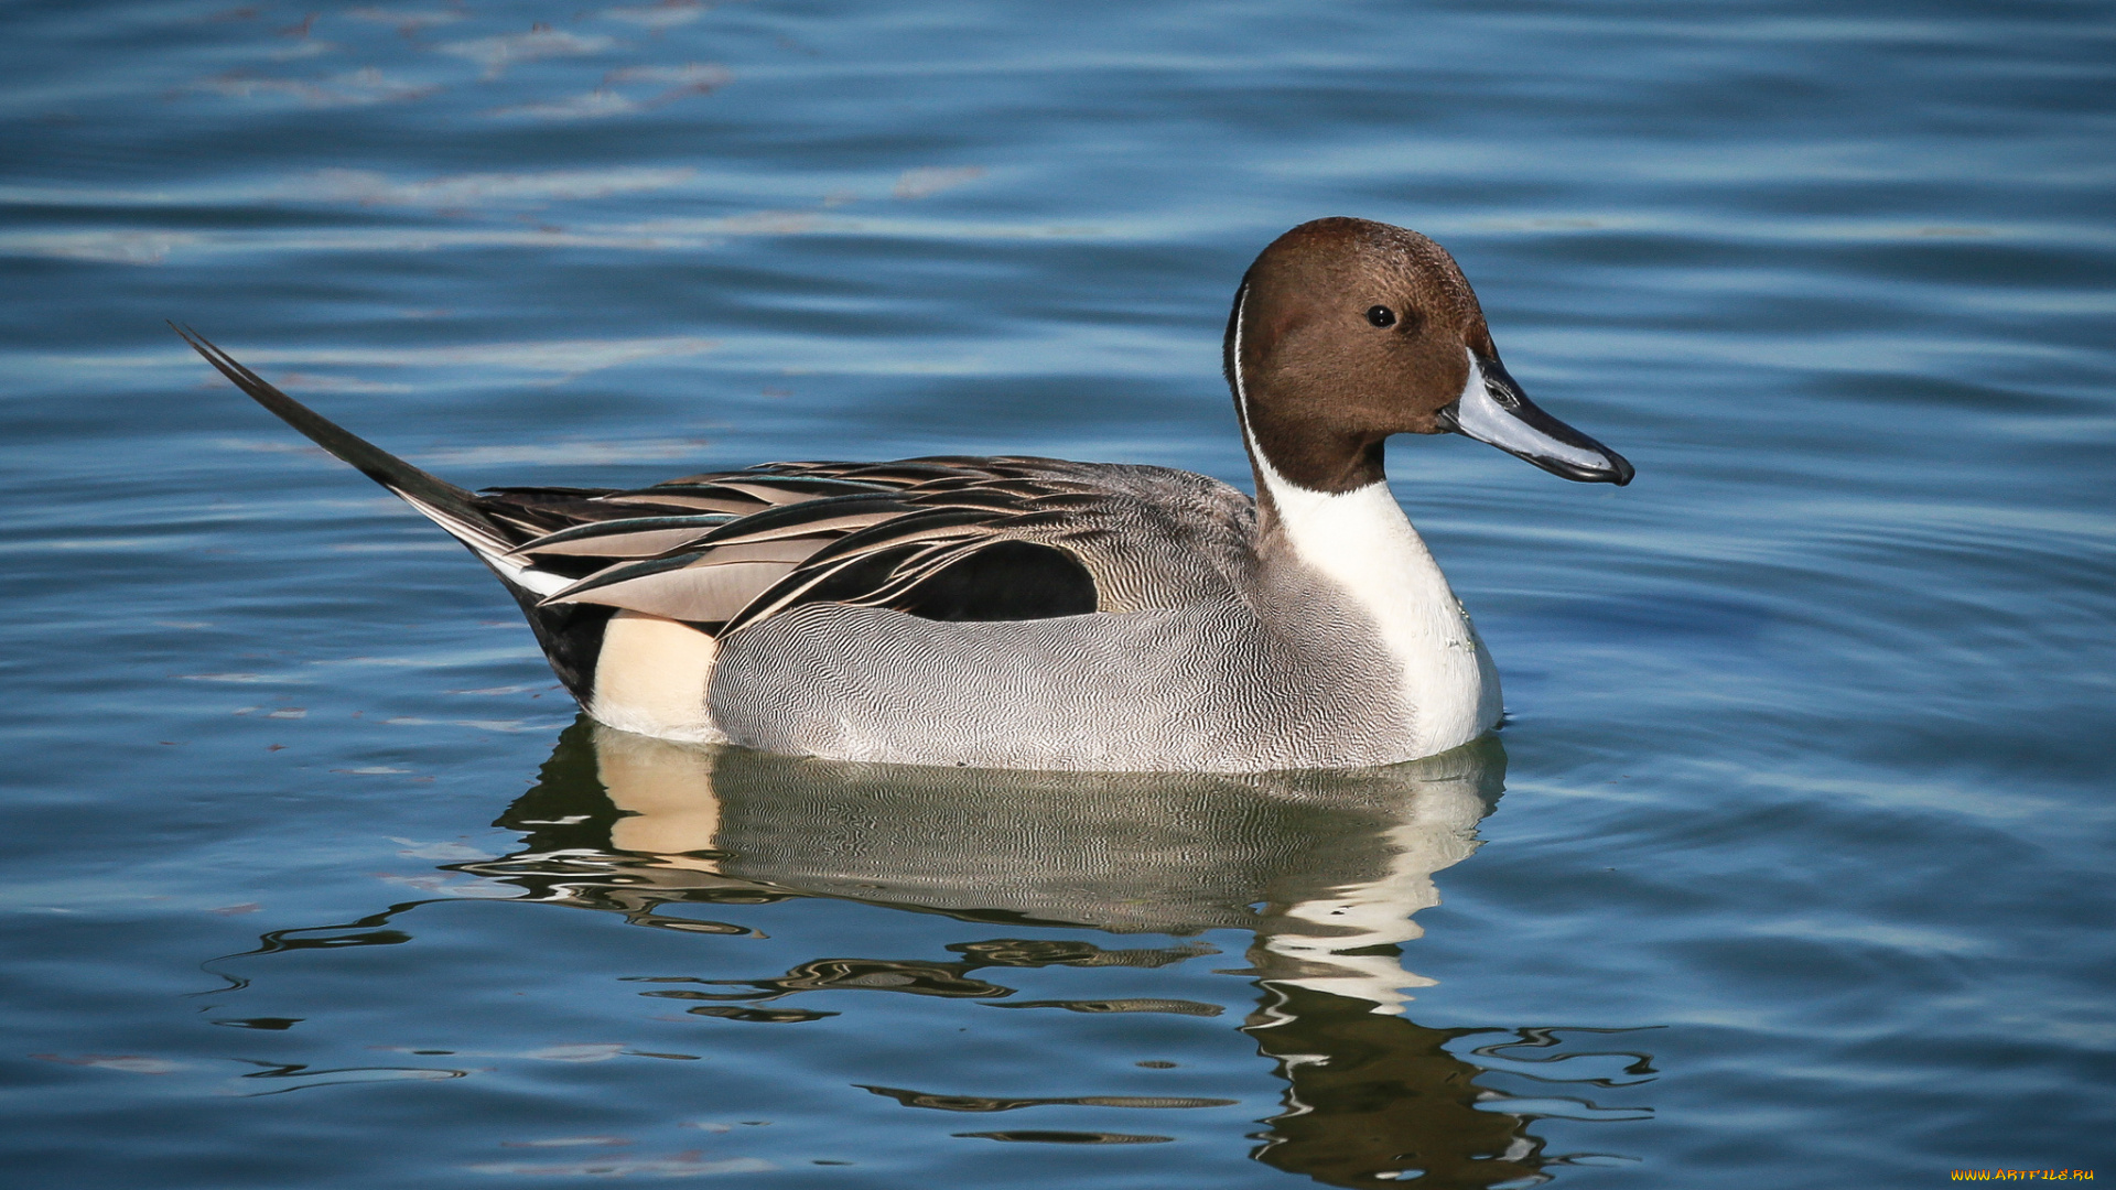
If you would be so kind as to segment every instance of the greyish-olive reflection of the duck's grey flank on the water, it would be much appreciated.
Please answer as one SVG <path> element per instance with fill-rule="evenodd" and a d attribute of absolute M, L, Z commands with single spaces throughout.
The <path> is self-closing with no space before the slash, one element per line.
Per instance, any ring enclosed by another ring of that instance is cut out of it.
<path fill-rule="evenodd" d="M 605 735 L 605 756 L 620 739 Z M 730 877 L 832 896 L 1121 932 L 1255 930 L 1257 902 L 1371 887 L 1411 849 L 1413 866 L 1458 858 L 1498 792 L 1496 760 L 1494 747 L 1473 747 L 1344 773 L 995 781 L 726 750 L 711 754 L 713 849 Z M 618 769 L 605 760 L 603 773 Z M 624 805 L 631 790 L 620 781 L 609 792 Z M 1394 834 L 1411 824 L 1416 839 Z"/>

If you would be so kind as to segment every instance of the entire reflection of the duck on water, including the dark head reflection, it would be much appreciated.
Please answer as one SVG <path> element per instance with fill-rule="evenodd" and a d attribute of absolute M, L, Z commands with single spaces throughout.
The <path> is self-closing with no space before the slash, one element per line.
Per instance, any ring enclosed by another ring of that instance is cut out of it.
<path fill-rule="evenodd" d="M 1168 946 L 992 938 L 961 959 L 832 957 L 753 980 L 650 978 L 688 1010 L 736 1021 L 829 1016 L 800 991 L 874 989 L 1005 997 L 1007 968 L 1157 968 L 1217 953 L 1181 942 L 1248 932 L 1259 1004 L 1240 1025 L 1287 1082 L 1255 1158 L 1333 1186 L 1532 1184 L 1564 1162 L 1530 1135 L 1534 1112 L 1477 1086 L 1449 1042 L 1551 1044 L 1543 1031 L 1426 1029 L 1403 1016 L 1411 915 L 1439 902 L 1433 872 L 1475 849 L 1504 752 L 1481 741 L 1422 762 L 1348 773 L 1107 775 L 904 769 L 694 747 L 582 720 L 497 826 L 527 832 L 504 860 L 451 864 L 533 898 L 622 913 L 637 925 L 747 934 L 705 904 L 800 896 L 944 913 L 963 921 L 1162 934 Z M 686 910 L 690 906 L 690 910 Z M 982 974 L 980 974 L 982 972 Z M 1075 1012 L 1217 1016 L 1191 999 L 1005 1002 Z M 1634 1065 L 1644 1071 L 1644 1065 Z M 1602 1082 L 1602 1080 L 1589 1080 Z M 1602 1082 L 1606 1086 L 1606 1082 Z M 1005 1112 L 1088 1099 L 986 1099 L 870 1086 L 908 1107 Z M 1543 1099 L 1540 1103 L 1547 1103 Z M 1094 1099 L 1102 1103 L 1102 1099 Z M 1206 1101 L 1109 1101 L 1200 1107 Z M 1496 1107 L 1496 1110 L 1494 1110 Z M 1011 1141 L 1141 1143 L 1128 1133 L 978 1131 Z"/>

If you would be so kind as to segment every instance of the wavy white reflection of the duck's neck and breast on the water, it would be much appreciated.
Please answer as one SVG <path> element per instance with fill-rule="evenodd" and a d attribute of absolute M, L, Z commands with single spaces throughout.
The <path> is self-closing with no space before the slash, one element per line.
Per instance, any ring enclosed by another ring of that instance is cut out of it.
<path fill-rule="evenodd" d="M 1405 809 L 1407 817 L 1382 836 L 1390 847 L 1388 872 L 1287 908 L 1278 917 L 1278 930 L 1263 940 L 1265 951 L 1297 959 L 1301 972 L 1329 974 L 1267 978 L 1365 999 L 1375 1012 L 1403 1012 L 1409 995 L 1401 989 L 1433 987 L 1430 978 L 1405 972 L 1392 955 L 1346 955 L 1424 934 L 1411 915 L 1441 902 L 1433 872 L 1477 849 L 1475 830 L 1485 807 L 1473 783 L 1435 783 Z M 1306 932 L 1303 925 L 1327 932 Z"/>

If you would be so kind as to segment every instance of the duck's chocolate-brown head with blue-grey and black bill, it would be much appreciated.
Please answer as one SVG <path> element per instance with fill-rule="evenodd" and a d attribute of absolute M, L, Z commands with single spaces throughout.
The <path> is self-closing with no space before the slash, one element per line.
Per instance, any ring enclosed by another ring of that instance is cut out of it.
<path fill-rule="evenodd" d="M 1234 294 L 1227 383 L 1259 468 L 1310 491 L 1384 479 L 1390 434 L 1466 434 L 1583 483 L 1631 483 L 1617 451 L 1536 409 L 1498 362 L 1445 248 L 1363 218 L 1280 235 Z"/>

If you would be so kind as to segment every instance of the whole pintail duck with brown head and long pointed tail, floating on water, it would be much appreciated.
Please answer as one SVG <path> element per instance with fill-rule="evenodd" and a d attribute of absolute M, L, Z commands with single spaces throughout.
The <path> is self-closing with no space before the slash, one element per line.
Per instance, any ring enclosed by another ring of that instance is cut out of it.
<path fill-rule="evenodd" d="M 1441 246 L 1356 218 L 1284 233 L 1234 294 L 1255 500 L 1016 455 L 466 491 L 184 337 L 470 546 L 597 720 L 838 760 L 1259 773 L 1445 752 L 1498 722 L 1498 673 L 1382 443 L 1456 432 L 1631 481 L 1530 404 Z"/>

